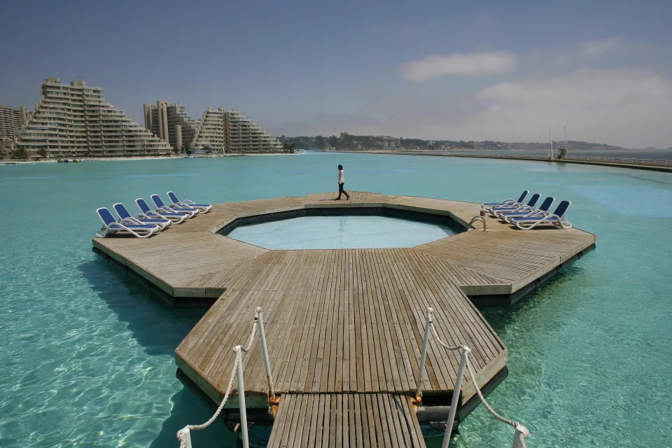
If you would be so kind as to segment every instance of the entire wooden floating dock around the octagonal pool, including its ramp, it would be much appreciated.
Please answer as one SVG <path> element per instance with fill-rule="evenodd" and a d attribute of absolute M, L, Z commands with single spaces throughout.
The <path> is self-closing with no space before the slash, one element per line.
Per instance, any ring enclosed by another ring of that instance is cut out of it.
<path fill-rule="evenodd" d="M 262 308 L 280 396 L 269 447 L 424 446 L 421 411 L 449 404 L 459 363 L 457 352 L 431 338 L 417 384 L 426 309 L 434 309 L 444 341 L 472 349 L 478 385 L 487 393 L 507 374 L 507 349 L 475 305 L 512 304 L 595 245 L 582 230 L 522 231 L 493 218 L 485 218 L 485 231 L 414 248 L 271 251 L 218 234 L 236 223 L 318 209 L 418 214 L 468 229 L 480 209 L 377 193 L 332 197 L 215 204 L 209 214 L 151 238 L 93 239 L 96 251 L 166 300 L 211 305 L 175 353 L 180 370 L 216 403 L 228 384 L 232 347 L 246 342 L 255 307 Z M 244 372 L 247 407 L 267 409 L 260 344 L 244 356 Z M 410 399 L 419 386 L 423 407 L 416 412 Z M 458 393 L 459 421 L 477 396 L 466 379 Z"/>

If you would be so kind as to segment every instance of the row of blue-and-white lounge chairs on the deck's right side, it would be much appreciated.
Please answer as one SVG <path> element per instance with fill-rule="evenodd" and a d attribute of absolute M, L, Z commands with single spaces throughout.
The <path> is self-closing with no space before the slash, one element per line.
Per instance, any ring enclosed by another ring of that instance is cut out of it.
<path fill-rule="evenodd" d="M 572 224 L 565 217 L 572 204 L 571 202 L 561 201 L 551 213 L 549 209 L 555 200 L 554 197 L 547 197 L 537 208 L 536 205 L 541 195 L 534 193 L 525 204 L 523 201 L 528 193 L 530 192 L 525 190 L 518 200 L 507 199 L 501 202 L 486 202 L 482 204 L 482 209 L 486 211 L 486 214 L 515 225 L 521 230 L 530 230 L 538 225 L 554 225 L 563 229 L 572 227 Z"/>

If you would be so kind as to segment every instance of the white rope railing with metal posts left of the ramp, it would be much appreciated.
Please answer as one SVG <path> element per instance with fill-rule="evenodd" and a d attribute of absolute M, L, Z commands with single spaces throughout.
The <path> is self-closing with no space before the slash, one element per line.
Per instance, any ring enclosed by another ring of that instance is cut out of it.
<path fill-rule="evenodd" d="M 274 398 L 275 395 L 273 390 L 273 380 L 270 376 L 270 364 L 268 362 L 268 352 L 266 348 L 266 337 L 263 328 L 262 311 L 260 307 L 257 307 L 254 311 L 254 321 L 252 323 L 252 330 L 250 332 L 250 338 L 247 342 L 247 345 L 246 346 L 237 345 L 233 348 L 233 351 L 235 351 L 236 356 L 234 358 L 233 366 L 231 368 L 229 384 L 226 387 L 226 392 L 224 393 L 224 397 L 222 398 L 219 407 L 217 408 L 215 413 L 210 417 L 210 419 L 205 423 L 201 423 L 200 425 L 187 425 L 177 432 L 177 439 L 180 441 L 180 448 L 192 448 L 191 434 L 190 434 L 191 431 L 203 430 L 208 426 L 210 426 L 214 421 L 216 421 L 217 417 L 219 416 L 219 414 L 221 414 L 222 410 L 224 409 L 224 405 L 226 404 L 231 394 L 233 388 L 233 380 L 235 379 L 236 375 L 238 376 L 237 386 L 238 386 L 238 397 L 239 397 L 239 408 L 241 419 L 240 427 L 243 435 L 242 437 L 243 446 L 244 448 L 248 448 L 249 442 L 247 437 L 247 414 L 245 412 L 245 386 L 243 382 L 243 353 L 247 353 L 251 349 L 257 329 L 259 329 L 260 338 L 262 339 L 262 351 L 264 352 L 263 354 L 265 358 L 265 367 L 267 370 L 269 394 L 271 394 L 272 397 Z"/>

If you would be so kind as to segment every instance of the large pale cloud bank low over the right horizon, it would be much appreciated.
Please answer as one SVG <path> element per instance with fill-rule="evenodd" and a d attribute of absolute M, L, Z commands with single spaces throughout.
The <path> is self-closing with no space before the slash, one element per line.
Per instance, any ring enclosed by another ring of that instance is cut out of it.
<path fill-rule="evenodd" d="M 484 111 L 463 126 L 511 140 L 567 125 L 577 140 L 666 148 L 672 142 L 671 97 L 672 80 L 651 71 L 580 69 L 491 85 L 475 97 Z"/>

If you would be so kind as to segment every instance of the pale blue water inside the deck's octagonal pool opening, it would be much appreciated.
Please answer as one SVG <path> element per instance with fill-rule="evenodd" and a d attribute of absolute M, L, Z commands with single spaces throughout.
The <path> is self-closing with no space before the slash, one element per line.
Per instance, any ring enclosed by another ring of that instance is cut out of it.
<path fill-rule="evenodd" d="M 301 216 L 243 225 L 228 236 L 280 250 L 413 247 L 451 235 L 442 225 L 388 216 Z"/>

